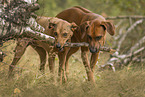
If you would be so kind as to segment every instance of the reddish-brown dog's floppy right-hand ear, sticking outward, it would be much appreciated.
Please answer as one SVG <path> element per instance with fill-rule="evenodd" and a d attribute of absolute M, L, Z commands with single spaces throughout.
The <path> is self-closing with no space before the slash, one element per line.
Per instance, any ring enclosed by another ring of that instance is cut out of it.
<path fill-rule="evenodd" d="M 104 28 L 104 30 L 107 30 L 110 35 L 113 36 L 115 34 L 115 26 L 112 23 L 105 21 L 101 23 L 101 26 Z"/>

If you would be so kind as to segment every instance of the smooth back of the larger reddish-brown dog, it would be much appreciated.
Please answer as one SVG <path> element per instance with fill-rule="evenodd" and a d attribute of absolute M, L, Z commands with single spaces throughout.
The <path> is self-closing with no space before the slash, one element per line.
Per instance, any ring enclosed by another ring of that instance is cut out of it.
<path fill-rule="evenodd" d="M 77 25 L 80 25 L 84 21 L 90 21 L 97 18 L 100 20 L 105 20 L 105 18 L 101 15 L 95 14 L 88 9 L 80 6 L 68 8 L 57 14 L 56 17 L 66 20 L 68 22 L 75 22 Z"/>

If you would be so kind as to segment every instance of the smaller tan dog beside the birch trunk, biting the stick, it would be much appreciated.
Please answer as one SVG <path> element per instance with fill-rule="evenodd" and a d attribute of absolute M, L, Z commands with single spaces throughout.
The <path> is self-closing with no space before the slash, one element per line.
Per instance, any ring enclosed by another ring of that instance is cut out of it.
<path fill-rule="evenodd" d="M 49 56 L 49 68 L 50 71 L 54 71 L 55 52 L 62 51 L 66 41 L 70 41 L 73 31 L 77 27 L 75 23 L 68 23 L 62 19 L 50 18 L 50 17 L 37 17 L 36 21 L 45 28 L 45 34 L 55 37 L 55 46 L 43 43 L 39 40 L 33 40 L 28 38 L 18 39 L 17 46 L 15 48 L 15 56 L 9 67 L 9 77 L 12 75 L 12 71 L 24 54 L 26 48 L 31 45 L 39 54 L 40 57 L 40 70 L 44 71 L 44 65 L 46 63 L 46 52 Z M 52 49 L 54 48 L 54 49 Z M 54 55 L 53 55 L 54 54 Z M 61 61 L 61 59 L 60 59 Z M 53 62 L 53 63 L 52 63 Z M 53 64 L 53 65 L 52 65 Z"/>

